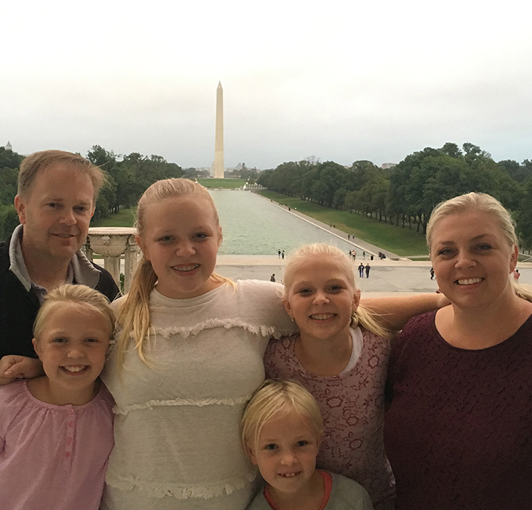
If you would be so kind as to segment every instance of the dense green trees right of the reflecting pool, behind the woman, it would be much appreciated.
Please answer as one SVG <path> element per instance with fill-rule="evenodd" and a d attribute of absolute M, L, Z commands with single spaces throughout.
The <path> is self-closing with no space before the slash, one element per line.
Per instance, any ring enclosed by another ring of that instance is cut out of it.
<path fill-rule="evenodd" d="M 509 209 L 526 248 L 532 246 L 532 161 L 495 162 L 477 145 L 424 148 L 384 170 L 367 160 L 344 167 L 314 159 L 284 162 L 260 174 L 258 184 L 326 207 L 346 209 L 425 233 L 440 201 L 467 192 L 495 196 Z"/>

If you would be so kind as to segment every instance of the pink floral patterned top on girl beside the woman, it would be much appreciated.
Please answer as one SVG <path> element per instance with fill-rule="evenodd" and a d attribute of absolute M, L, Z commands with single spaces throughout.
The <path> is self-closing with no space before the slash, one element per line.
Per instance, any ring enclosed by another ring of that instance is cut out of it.
<path fill-rule="evenodd" d="M 375 510 L 392 510 L 395 486 L 382 439 L 390 343 L 360 328 L 352 336 L 362 337 L 360 356 L 336 376 L 305 370 L 294 351 L 297 336 L 270 340 L 266 377 L 295 380 L 318 401 L 324 424 L 318 467 L 360 483 Z"/>

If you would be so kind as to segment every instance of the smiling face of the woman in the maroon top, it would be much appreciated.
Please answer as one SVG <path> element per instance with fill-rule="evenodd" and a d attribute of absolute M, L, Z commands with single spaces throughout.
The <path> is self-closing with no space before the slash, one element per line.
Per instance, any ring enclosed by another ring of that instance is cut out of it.
<path fill-rule="evenodd" d="M 441 292 L 456 306 L 489 306 L 513 293 L 509 274 L 517 262 L 493 216 L 466 211 L 433 227 L 431 261 Z"/>

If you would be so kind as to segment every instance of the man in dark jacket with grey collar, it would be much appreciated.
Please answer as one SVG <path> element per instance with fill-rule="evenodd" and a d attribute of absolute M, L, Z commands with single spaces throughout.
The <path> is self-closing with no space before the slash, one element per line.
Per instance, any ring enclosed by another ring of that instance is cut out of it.
<path fill-rule="evenodd" d="M 79 250 L 87 238 L 99 167 L 61 150 L 26 157 L 18 174 L 19 225 L 0 243 L 0 357 L 36 357 L 33 321 L 45 294 L 63 283 L 86 284 L 112 301 L 113 278 Z"/>

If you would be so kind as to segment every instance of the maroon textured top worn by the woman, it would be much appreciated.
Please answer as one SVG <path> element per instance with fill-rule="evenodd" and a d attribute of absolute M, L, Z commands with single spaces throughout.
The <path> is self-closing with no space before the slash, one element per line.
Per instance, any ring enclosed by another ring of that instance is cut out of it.
<path fill-rule="evenodd" d="M 398 510 L 532 508 L 532 316 L 504 342 L 455 348 L 430 312 L 392 348 L 384 445 Z"/>

